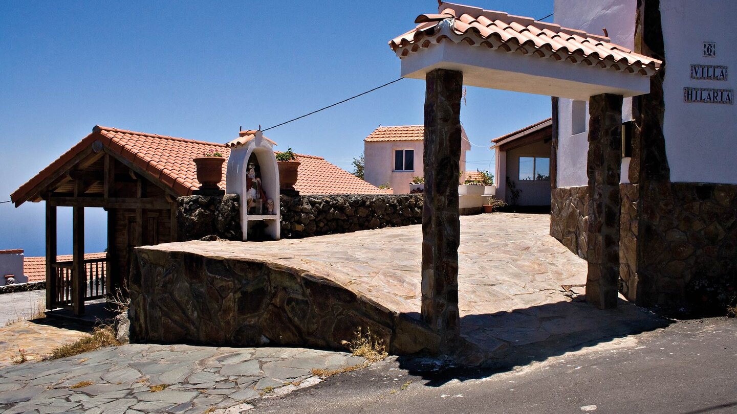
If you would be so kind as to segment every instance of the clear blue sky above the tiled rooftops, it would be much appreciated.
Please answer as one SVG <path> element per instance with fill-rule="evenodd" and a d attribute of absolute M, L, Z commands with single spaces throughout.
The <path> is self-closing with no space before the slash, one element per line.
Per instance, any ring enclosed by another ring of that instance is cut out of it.
<path fill-rule="evenodd" d="M 542 18 L 552 0 L 469 1 Z M 0 201 L 95 124 L 226 142 L 399 77 L 387 42 L 422 1 L 0 1 Z M 552 18 L 546 19 L 552 21 Z M 425 84 L 399 83 L 266 135 L 351 170 L 374 128 L 422 124 Z M 550 116 L 550 98 L 468 88 L 467 169 L 493 171 L 489 141 Z M 68 211 L 69 210 L 69 211 Z M 105 248 L 87 209 L 85 250 Z M 0 249 L 43 256 L 43 203 L 0 204 Z M 71 253 L 62 208 L 59 253 Z"/>

